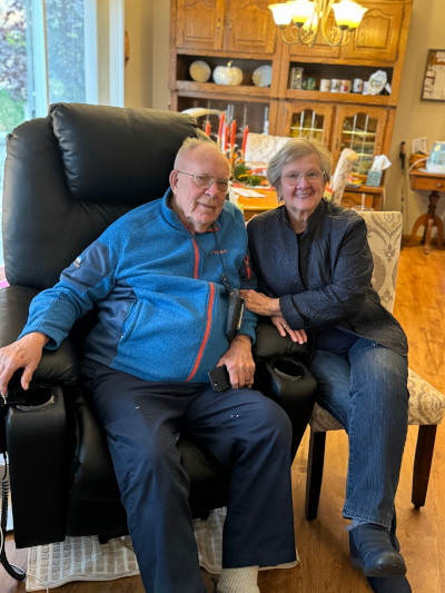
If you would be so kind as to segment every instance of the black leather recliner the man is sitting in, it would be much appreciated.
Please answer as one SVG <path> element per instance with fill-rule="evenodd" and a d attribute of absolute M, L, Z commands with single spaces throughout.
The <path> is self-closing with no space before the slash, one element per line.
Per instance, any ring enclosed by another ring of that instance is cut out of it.
<path fill-rule="evenodd" d="M 60 103 L 8 137 L 3 244 L 10 286 L 0 289 L 0 347 L 17 339 L 31 299 L 53 286 L 86 246 L 131 208 L 165 194 L 178 148 L 197 134 L 196 121 L 180 113 Z M 44 352 L 24 404 L 8 408 L 17 547 L 127 532 L 105 432 L 79 384 L 78 362 L 95 315 L 77 322 L 58 350 Z M 263 333 L 264 344 L 267 328 Z M 295 350 L 291 342 L 278 343 L 270 342 L 268 354 L 276 348 L 285 356 L 258 365 L 256 387 L 289 414 L 296 451 L 316 384 L 286 355 Z M 16 374 L 10 393 L 19 389 Z M 194 516 L 226 505 L 227 472 L 187 438 L 179 446 Z"/>

